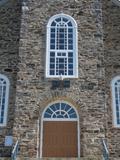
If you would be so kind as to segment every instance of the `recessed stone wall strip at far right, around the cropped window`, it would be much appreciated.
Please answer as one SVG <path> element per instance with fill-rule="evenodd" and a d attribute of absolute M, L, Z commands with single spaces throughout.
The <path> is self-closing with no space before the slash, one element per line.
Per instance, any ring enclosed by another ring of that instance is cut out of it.
<path fill-rule="evenodd" d="M 120 158 L 120 129 L 113 126 L 111 80 L 120 75 L 120 7 L 103 1 L 107 138 L 111 159 Z"/>

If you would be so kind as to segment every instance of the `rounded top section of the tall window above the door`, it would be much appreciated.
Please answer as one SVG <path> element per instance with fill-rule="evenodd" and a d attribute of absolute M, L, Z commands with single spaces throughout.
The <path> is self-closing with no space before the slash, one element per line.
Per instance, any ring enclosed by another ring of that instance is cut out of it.
<path fill-rule="evenodd" d="M 52 16 L 49 19 L 47 27 L 58 27 L 58 26 L 68 26 L 68 27 L 77 27 L 77 23 L 71 16 L 61 13 Z"/>

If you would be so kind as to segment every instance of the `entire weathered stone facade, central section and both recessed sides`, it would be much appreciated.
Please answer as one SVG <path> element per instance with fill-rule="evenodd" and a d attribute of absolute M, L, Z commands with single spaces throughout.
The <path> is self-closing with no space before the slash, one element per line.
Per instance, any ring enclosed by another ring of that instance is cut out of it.
<path fill-rule="evenodd" d="M 104 137 L 111 160 L 118 160 L 120 136 L 112 126 L 110 82 L 120 75 L 119 7 L 107 0 L 28 0 L 26 4 L 29 10 L 22 7 L 22 14 L 15 0 L 0 8 L 0 73 L 11 84 L 8 123 L 0 128 L 0 143 L 4 144 L 5 135 L 13 135 L 14 141 L 20 141 L 19 159 L 33 160 L 40 154 L 43 110 L 64 100 L 80 116 L 81 160 L 102 160 Z M 61 12 L 78 24 L 79 78 L 69 80 L 68 88 L 53 89 L 45 78 L 46 25 Z"/>

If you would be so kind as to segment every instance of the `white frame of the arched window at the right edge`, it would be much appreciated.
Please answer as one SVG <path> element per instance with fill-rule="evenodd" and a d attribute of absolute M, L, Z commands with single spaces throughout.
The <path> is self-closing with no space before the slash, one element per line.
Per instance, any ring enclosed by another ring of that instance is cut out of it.
<path fill-rule="evenodd" d="M 116 97 L 115 97 L 115 83 L 120 80 L 120 76 L 116 76 L 111 81 L 111 90 L 112 90 L 112 111 L 113 111 L 113 125 L 114 127 L 120 128 L 120 124 L 117 123 L 117 109 L 116 109 Z M 120 97 L 119 97 L 120 98 Z M 120 102 L 120 99 L 119 99 Z M 120 109 L 120 104 L 119 104 Z M 120 112 L 119 112 L 120 114 Z"/>

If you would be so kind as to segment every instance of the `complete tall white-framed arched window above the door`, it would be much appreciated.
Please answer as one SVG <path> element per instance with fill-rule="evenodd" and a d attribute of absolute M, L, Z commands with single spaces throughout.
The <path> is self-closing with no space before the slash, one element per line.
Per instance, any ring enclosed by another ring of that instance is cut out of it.
<path fill-rule="evenodd" d="M 66 14 L 50 18 L 47 25 L 46 77 L 78 77 L 77 24 Z"/>

